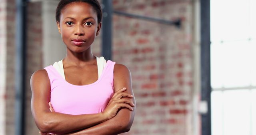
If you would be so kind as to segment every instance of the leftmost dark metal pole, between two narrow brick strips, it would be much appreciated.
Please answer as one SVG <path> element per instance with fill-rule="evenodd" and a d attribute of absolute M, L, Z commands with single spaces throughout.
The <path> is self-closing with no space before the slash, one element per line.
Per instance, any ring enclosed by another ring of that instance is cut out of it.
<path fill-rule="evenodd" d="M 26 0 L 16 0 L 15 135 L 25 135 Z"/>

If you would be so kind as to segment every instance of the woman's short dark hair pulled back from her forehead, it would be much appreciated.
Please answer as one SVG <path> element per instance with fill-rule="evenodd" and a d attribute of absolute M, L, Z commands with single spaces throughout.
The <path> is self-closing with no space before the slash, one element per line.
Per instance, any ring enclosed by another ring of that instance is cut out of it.
<path fill-rule="evenodd" d="M 60 14 L 61 14 L 62 9 L 66 5 L 68 5 L 72 2 L 86 2 L 86 3 L 90 4 L 94 8 L 94 10 L 97 14 L 98 24 L 101 22 L 102 9 L 100 7 L 100 3 L 98 2 L 98 0 L 60 0 L 58 6 L 56 8 L 56 14 L 55 14 L 56 21 L 60 22 Z"/>

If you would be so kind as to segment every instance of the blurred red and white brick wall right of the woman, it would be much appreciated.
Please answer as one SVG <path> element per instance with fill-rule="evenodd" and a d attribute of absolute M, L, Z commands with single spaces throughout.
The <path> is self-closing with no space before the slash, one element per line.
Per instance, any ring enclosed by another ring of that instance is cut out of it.
<path fill-rule="evenodd" d="M 126 135 L 190 135 L 192 0 L 114 0 L 114 9 L 182 19 L 182 27 L 114 15 L 113 60 L 132 73 L 137 111 Z"/>

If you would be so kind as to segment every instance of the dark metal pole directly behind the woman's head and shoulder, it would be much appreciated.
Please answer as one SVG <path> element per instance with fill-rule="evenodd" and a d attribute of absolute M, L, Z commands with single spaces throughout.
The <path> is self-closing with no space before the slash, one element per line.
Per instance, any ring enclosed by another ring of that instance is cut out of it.
<path fill-rule="evenodd" d="M 112 0 L 102 0 L 102 56 L 112 60 Z"/>

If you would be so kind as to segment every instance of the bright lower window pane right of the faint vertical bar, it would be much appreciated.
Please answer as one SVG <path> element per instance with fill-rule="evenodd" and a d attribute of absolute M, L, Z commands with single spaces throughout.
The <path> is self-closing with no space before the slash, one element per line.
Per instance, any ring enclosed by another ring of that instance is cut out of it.
<path fill-rule="evenodd" d="M 223 92 L 224 135 L 250 135 L 250 91 Z"/>

